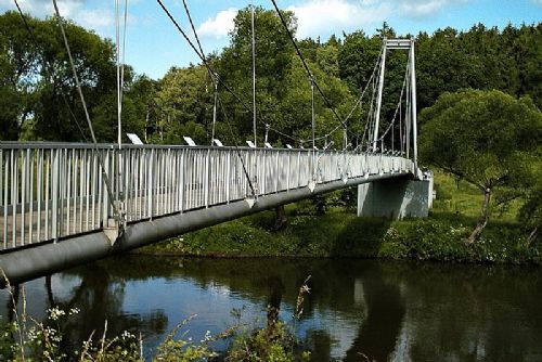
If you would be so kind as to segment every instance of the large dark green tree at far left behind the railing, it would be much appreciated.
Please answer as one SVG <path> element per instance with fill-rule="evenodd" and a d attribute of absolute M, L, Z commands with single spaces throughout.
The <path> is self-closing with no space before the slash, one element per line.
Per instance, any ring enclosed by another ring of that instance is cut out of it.
<path fill-rule="evenodd" d="M 40 21 L 0 15 L 0 120 L 2 139 L 48 141 L 89 139 L 82 106 L 56 18 Z M 64 23 L 91 120 L 105 130 L 100 141 L 116 140 L 114 46 L 92 31 Z M 126 68 L 129 85 L 132 70 Z"/>

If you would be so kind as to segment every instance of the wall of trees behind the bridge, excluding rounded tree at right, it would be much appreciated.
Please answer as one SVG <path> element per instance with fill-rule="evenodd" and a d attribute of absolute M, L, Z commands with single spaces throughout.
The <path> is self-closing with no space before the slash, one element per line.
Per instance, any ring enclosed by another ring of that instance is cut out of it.
<path fill-rule="evenodd" d="M 284 15 L 295 35 L 294 14 Z M 0 16 L 0 140 L 89 141 L 57 21 L 30 15 L 25 20 L 27 26 L 16 12 Z M 258 139 L 263 140 L 269 125 L 270 143 L 300 145 L 300 140 L 311 137 L 309 78 L 275 12 L 258 8 L 256 27 Z M 74 23 L 67 22 L 66 33 L 96 138 L 114 142 L 115 46 Z M 542 24 L 503 29 L 477 24 L 468 31 L 444 28 L 413 36 L 396 34 L 384 23 L 374 35 L 358 30 L 325 41 L 297 39 L 328 101 L 315 96 L 317 135 L 336 128 L 334 112 L 344 119 L 370 86 L 384 37 L 415 38 L 418 112 L 442 93 L 466 88 L 528 95 L 542 107 Z M 227 145 L 244 143 L 253 134 L 250 41 L 250 11 L 243 9 L 230 43 L 206 56 L 220 77 L 216 138 Z M 388 55 L 382 127 L 398 102 L 405 60 L 402 52 Z M 134 132 L 147 143 L 183 144 L 182 135 L 190 135 L 197 144 L 210 144 L 214 103 L 215 79 L 203 64 L 172 66 L 162 79 L 125 68 L 122 131 Z M 369 105 L 362 105 L 349 120 L 352 143 L 360 142 L 367 112 Z M 331 137 L 341 144 L 340 132 Z"/>

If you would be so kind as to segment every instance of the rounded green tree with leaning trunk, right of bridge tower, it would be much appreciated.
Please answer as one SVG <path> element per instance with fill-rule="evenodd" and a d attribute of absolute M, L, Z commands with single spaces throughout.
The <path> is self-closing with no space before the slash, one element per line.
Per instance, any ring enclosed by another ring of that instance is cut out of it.
<path fill-rule="evenodd" d="M 483 193 L 480 218 L 468 243 L 489 220 L 493 192 L 525 177 L 525 155 L 542 141 L 542 113 L 530 98 L 501 91 L 444 93 L 421 114 L 421 159 L 465 180 Z"/>

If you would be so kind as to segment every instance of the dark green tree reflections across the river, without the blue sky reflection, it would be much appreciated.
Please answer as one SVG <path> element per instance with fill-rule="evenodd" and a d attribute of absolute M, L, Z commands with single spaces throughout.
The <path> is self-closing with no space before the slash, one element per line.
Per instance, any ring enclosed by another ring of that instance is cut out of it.
<path fill-rule="evenodd" d="M 236 298 L 293 310 L 299 286 L 310 274 L 311 293 L 301 319 L 318 320 L 321 312 L 331 311 L 349 325 L 359 323 L 346 360 L 359 361 L 360 352 L 377 361 L 395 353 L 416 361 L 542 360 L 542 279 L 535 268 L 127 256 L 66 274 L 81 284 L 67 300 L 53 300 L 54 290 L 49 299 L 63 309 L 81 309 L 68 333 L 70 342 L 79 342 L 93 329 L 100 334 L 105 319 L 112 335 L 124 329 L 147 336 L 164 332 L 164 311 L 122 313 L 125 285 L 130 281 L 182 279 L 203 289 L 222 285 Z M 349 334 L 336 335 L 333 328 L 307 322 L 298 327 L 307 333 L 304 342 L 314 351 L 313 361 L 328 361 L 336 344 L 348 347 Z"/>

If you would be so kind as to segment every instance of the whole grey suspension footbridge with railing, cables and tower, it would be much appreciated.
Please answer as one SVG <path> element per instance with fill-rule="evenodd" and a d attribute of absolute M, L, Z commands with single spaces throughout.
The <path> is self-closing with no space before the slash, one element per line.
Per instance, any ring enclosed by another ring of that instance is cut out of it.
<path fill-rule="evenodd" d="M 63 36 L 70 57 L 64 30 Z M 341 118 L 331 107 L 337 127 L 317 137 L 314 92 L 327 99 L 289 36 L 312 90 L 310 148 L 273 148 L 269 143 L 257 147 L 256 104 L 247 107 L 254 111 L 255 130 L 249 147 L 128 145 L 121 144 L 120 133 L 118 144 L 99 144 L 87 112 L 93 143 L 0 142 L 0 268 L 5 277 L 24 282 L 315 194 L 384 180 L 391 184 L 420 180 L 413 40 L 384 39 L 369 81 L 373 100 L 360 138 L 365 143 L 351 145 L 348 121 L 353 109 Z M 206 62 L 201 44 L 196 48 L 185 39 L 215 79 L 215 91 L 221 85 L 242 102 Z M 396 49 L 409 51 L 409 61 L 395 115 L 380 130 L 386 54 Z M 366 89 L 354 107 L 369 94 Z M 79 93 L 85 106 L 80 87 Z M 215 118 L 216 108 L 217 96 Z M 273 128 L 266 124 L 269 130 Z M 338 151 L 326 143 L 336 131 L 344 132 Z M 320 150 L 319 140 L 324 142 Z M 403 209 L 404 197 L 399 198 Z"/>

